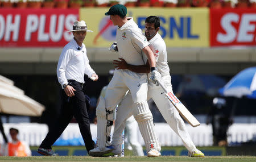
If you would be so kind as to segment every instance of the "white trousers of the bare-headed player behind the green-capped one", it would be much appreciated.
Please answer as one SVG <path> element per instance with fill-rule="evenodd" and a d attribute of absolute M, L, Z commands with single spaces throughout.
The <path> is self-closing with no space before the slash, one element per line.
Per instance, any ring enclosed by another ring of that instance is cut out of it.
<path fill-rule="evenodd" d="M 166 86 L 167 90 L 171 90 L 171 76 L 162 77 L 162 83 Z M 160 113 L 163 115 L 166 122 L 170 125 L 172 130 L 176 132 L 176 134 L 181 138 L 184 146 L 188 149 L 189 152 L 196 151 L 196 146 L 193 144 L 187 128 L 185 127 L 185 123 L 183 119 L 181 119 L 179 112 L 172 105 L 169 99 L 166 97 L 164 90 L 161 86 L 156 86 L 153 84 L 148 84 L 148 93 L 147 99 L 152 98 L 156 103 Z M 122 144 L 121 134 L 123 129 L 125 128 L 126 119 L 133 115 L 133 109 L 131 109 L 130 104 L 132 102 L 131 94 L 128 93 L 126 97 L 122 100 L 121 104 L 118 106 L 117 115 L 119 121 L 115 121 L 115 129 L 113 134 L 113 145 Z"/>

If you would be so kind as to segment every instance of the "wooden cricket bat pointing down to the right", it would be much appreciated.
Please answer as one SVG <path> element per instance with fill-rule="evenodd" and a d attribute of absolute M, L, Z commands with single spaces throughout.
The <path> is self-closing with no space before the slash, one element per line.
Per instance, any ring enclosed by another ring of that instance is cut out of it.
<path fill-rule="evenodd" d="M 180 100 L 176 97 L 176 95 L 172 92 L 168 92 L 167 89 L 164 87 L 162 82 L 156 80 L 160 86 L 162 86 L 164 92 L 166 92 L 167 98 L 171 101 L 172 105 L 176 107 L 179 111 L 181 117 L 185 119 L 192 127 L 197 127 L 200 125 L 199 121 L 188 111 L 188 109 L 180 102 Z"/>

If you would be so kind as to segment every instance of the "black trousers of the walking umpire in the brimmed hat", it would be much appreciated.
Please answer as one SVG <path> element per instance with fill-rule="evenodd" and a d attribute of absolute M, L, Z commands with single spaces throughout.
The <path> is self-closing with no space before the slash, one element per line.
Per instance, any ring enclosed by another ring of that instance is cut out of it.
<path fill-rule="evenodd" d="M 53 124 L 40 147 L 51 149 L 52 144 L 60 137 L 74 116 L 79 123 L 82 139 L 84 139 L 85 147 L 87 152 L 89 152 L 95 147 L 95 143 L 93 142 L 92 134 L 90 133 L 90 121 L 86 109 L 84 90 L 80 82 L 75 80 L 68 81 L 69 83 L 71 82 L 71 86 L 76 89 L 74 92 L 75 95 L 73 97 L 68 97 L 64 90 L 61 89 L 60 117 Z"/>

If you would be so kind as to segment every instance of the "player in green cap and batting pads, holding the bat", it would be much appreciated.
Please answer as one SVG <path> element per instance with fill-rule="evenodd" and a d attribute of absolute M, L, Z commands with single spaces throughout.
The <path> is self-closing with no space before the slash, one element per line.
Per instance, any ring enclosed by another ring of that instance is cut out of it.
<path fill-rule="evenodd" d="M 110 7 L 105 15 L 110 15 L 117 28 L 117 44 L 119 57 L 131 65 L 144 65 L 142 51 L 145 53 L 151 69 L 151 79 L 159 75 L 155 70 L 154 53 L 148 47 L 149 43 L 133 18 L 127 18 L 127 9 L 123 5 Z M 113 125 L 113 111 L 125 96 L 127 90 L 131 93 L 130 106 L 135 111 L 134 118 L 138 122 L 142 137 L 146 144 L 147 156 L 159 156 L 152 114 L 147 104 L 147 74 L 136 73 L 128 69 L 115 69 L 114 76 L 106 89 L 105 97 L 100 97 L 96 108 L 97 115 L 97 147 L 89 151 L 90 156 L 102 156 L 113 149 L 110 146 L 110 131 Z M 118 148 L 120 149 L 120 147 Z M 106 155 L 108 156 L 108 155 Z"/>

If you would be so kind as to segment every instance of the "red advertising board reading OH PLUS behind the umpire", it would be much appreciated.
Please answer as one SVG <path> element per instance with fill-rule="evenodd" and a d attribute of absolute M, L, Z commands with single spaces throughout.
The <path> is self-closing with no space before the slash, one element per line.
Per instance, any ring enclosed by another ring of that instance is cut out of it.
<path fill-rule="evenodd" d="M 0 47 L 63 47 L 79 9 L 1 9 Z"/>

